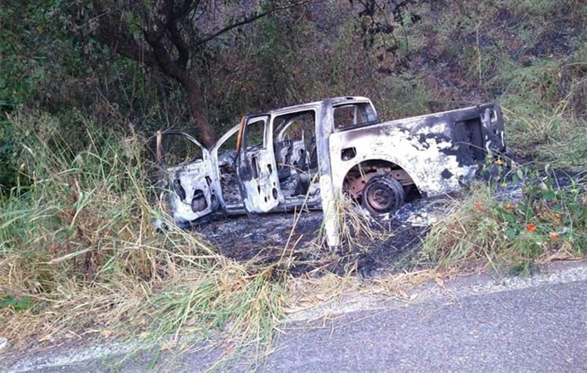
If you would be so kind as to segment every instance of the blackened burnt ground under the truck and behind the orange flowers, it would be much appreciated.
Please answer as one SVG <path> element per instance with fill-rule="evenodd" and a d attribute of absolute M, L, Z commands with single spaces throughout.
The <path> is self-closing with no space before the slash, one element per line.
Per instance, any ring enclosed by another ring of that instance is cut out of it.
<path fill-rule="evenodd" d="M 518 164 L 530 164 L 528 157 L 517 157 Z M 555 189 L 567 189 L 583 173 L 552 171 Z M 498 202 L 519 202 L 523 198 L 524 184 L 510 172 L 499 179 L 490 172 L 480 173 L 479 181 L 494 187 L 492 198 Z M 533 184 L 546 180 L 548 175 L 539 172 Z M 497 182 L 496 180 L 499 180 Z M 442 198 L 425 199 L 412 193 L 407 202 L 395 213 L 377 220 L 366 218 L 372 234 L 350 227 L 352 242 L 331 251 L 325 245 L 322 211 L 300 211 L 226 216 L 216 213 L 191 226 L 193 232 L 207 240 L 218 251 L 238 262 L 252 262 L 266 267 L 291 258 L 289 273 L 293 276 L 320 276 L 325 272 L 358 274 L 377 277 L 410 269 L 434 267 L 427 262 L 421 249 L 432 225 L 454 213 L 455 202 L 468 196 L 468 186 Z M 582 187 L 581 188 L 582 191 Z M 350 213 L 360 213 L 359 208 Z"/>

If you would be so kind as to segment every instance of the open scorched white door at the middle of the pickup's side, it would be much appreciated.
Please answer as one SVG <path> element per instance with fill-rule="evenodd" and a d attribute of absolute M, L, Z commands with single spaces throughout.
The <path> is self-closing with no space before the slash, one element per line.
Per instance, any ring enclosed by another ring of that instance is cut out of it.
<path fill-rule="evenodd" d="M 240 123 L 236 172 L 249 212 L 270 211 L 282 199 L 268 127 L 269 115 L 244 117 Z"/>

